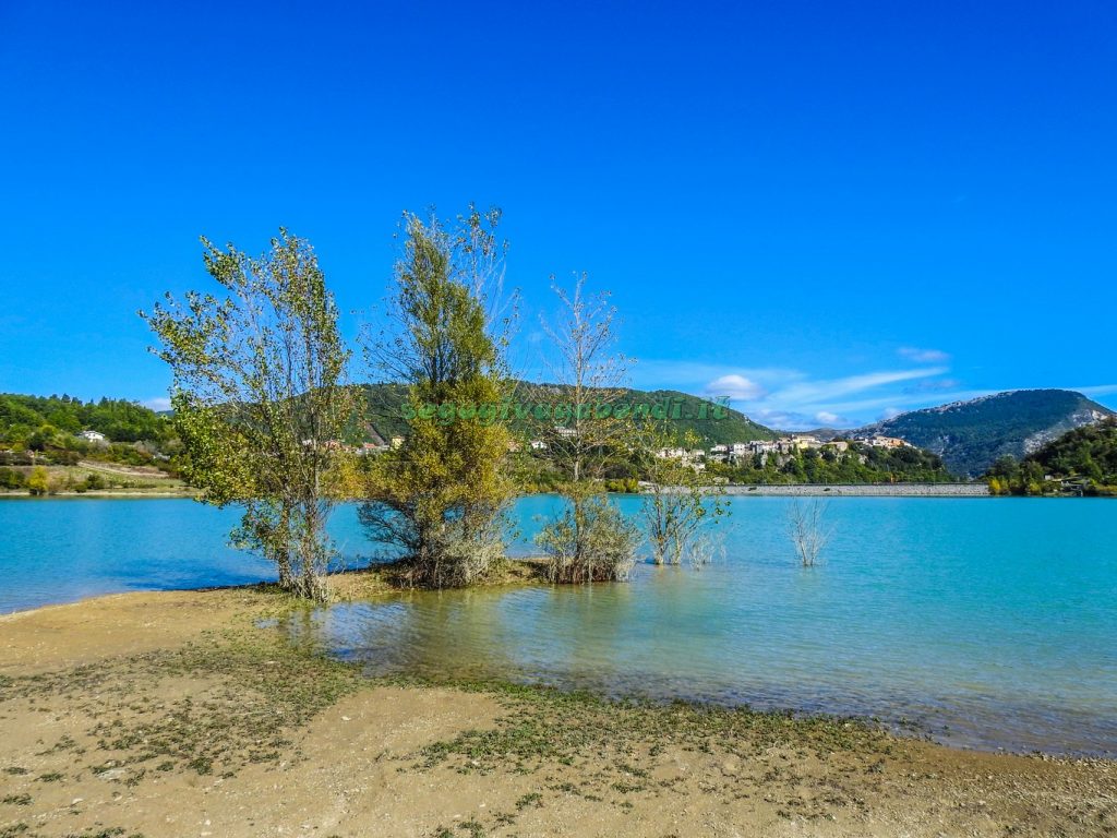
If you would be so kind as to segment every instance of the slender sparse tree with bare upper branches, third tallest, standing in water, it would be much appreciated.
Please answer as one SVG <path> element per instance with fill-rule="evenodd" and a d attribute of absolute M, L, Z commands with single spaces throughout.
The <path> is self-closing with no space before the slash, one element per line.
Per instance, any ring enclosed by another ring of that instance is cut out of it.
<path fill-rule="evenodd" d="M 541 432 L 547 458 L 563 475 L 566 506 L 536 543 L 555 582 L 626 579 L 639 545 L 637 526 L 609 503 L 602 483 L 611 459 L 638 450 L 624 402 L 628 360 L 614 352 L 617 310 L 608 295 L 586 293 L 585 280 L 579 276 L 572 291 L 554 285 L 562 312 L 557 323 L 543 323 L 554 387 Z"/>

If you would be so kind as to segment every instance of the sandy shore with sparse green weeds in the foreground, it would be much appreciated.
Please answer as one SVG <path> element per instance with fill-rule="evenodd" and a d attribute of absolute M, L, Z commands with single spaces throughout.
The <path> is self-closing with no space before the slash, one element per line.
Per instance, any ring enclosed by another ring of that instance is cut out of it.
<path fill-rule="evenodd" d="M 1117 834 L 1111 762 L 370 680 L 258 625 L 289 608 L 233 589 L 0 618 L 0 838 Z"/>

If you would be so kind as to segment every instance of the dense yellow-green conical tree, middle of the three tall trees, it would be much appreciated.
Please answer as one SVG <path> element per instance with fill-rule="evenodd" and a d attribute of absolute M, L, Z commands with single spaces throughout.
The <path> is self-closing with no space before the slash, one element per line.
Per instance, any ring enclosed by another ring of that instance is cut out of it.
<path fill-rule="evenodd" d="M 403 553 L 416 583 L 435 588 L 478 581 L 505 556 L 510 437 L 497 408 L 512 314 L 497 299 L 498 220 L 471 209 L 446 229 L 405 215 L 388 324 L 367 346 L 382 373 L 409 387 L 410 428 L 370 459 L 361 521 Z"/>

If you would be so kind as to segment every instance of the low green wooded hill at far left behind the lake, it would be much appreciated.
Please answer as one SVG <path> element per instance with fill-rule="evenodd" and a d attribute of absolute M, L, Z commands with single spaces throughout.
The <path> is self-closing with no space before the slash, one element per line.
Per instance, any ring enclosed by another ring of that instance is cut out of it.
<path fill-rule="evenodd" d="M 114 442 L 160 441 L 172 435 L 166 417 L 123 399 L 0 393 L 0 442 L 27 444 L 36 435 L 80 430 L 98 431 Z"/>

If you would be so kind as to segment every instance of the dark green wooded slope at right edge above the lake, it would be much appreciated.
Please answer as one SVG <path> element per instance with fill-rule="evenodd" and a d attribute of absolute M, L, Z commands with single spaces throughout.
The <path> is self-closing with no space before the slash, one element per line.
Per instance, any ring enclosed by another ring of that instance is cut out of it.
<path fill-rule="evenodd" d="M 985 476 L 996 495 L 1117 495 L 1117 418 L 1076 428 L 1022 461 L 1002 457 Z"/>

